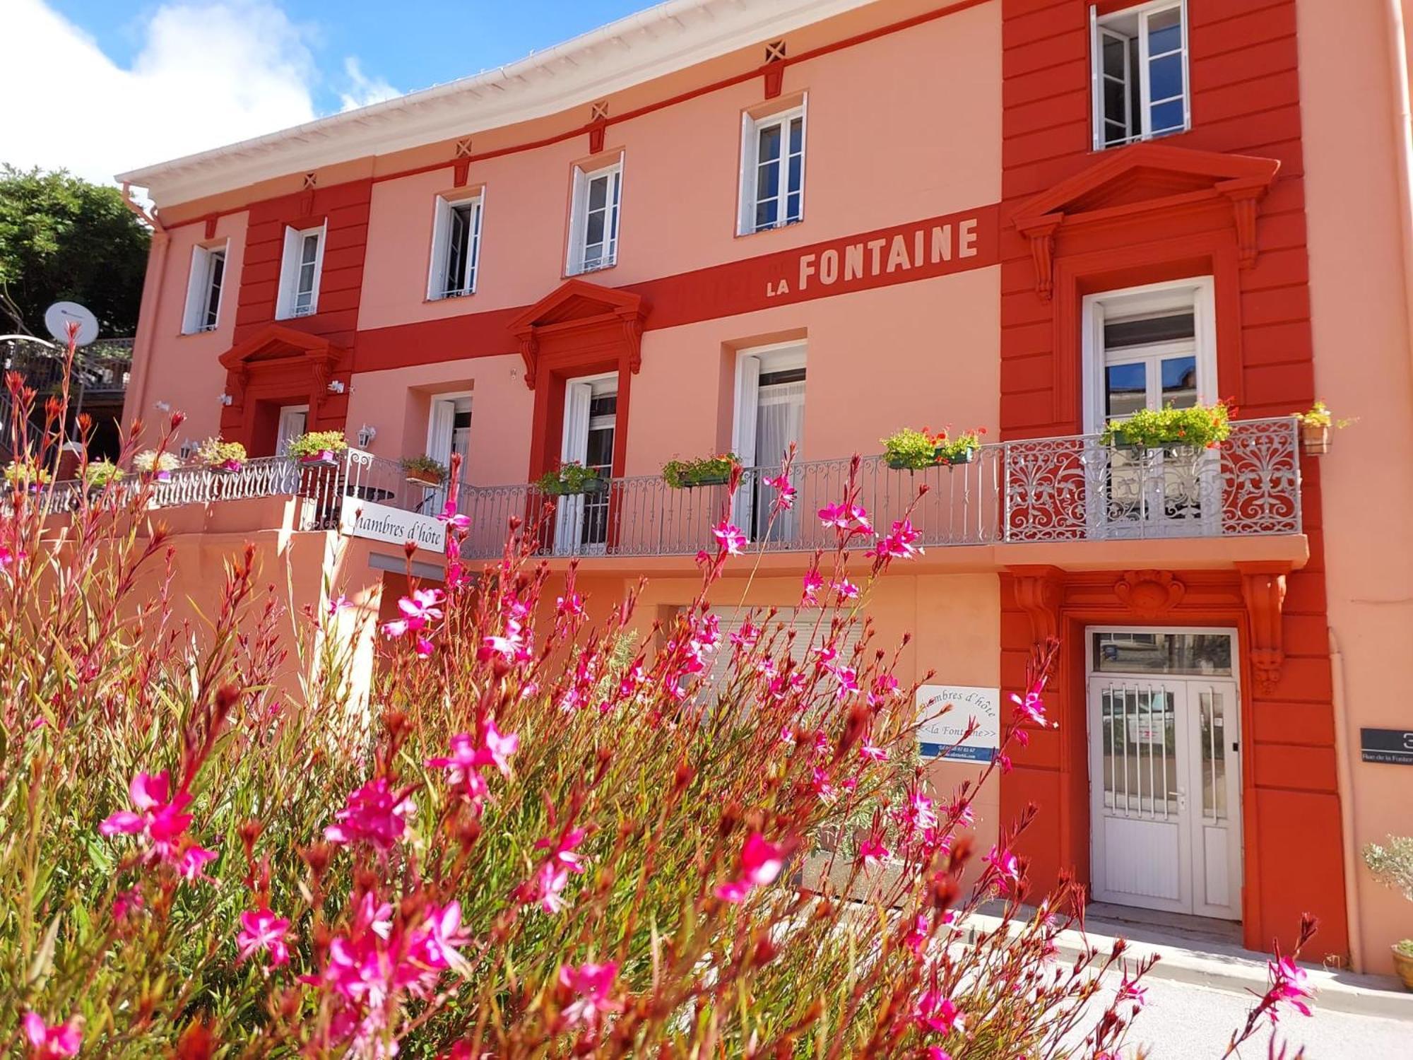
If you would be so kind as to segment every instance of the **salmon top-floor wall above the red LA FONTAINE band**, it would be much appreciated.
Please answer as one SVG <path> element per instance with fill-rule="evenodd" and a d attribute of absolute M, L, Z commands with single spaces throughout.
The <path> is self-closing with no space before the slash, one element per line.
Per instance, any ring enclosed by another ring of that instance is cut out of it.
<path fill-rule="evenodd" d="M 1000 191 L 998 4 L 885 35 L 784 76 L 808 92 L 804 220 L 738 237 L 742 112 L 756 79 L 613 123 L 595 163 L 623 153 L 619 264 L 595 283 L 626 285 L 995 202 Z M 907 71 L 906 78 L 890 71 Z M 569 181 L 582 140 L 476 161 L 485 187 L 475 295 L 428 302 L 432 204 L 454 170 L 373 185 L 372 253 L 359 328 L 528 305 L 564 271 Z"/>

